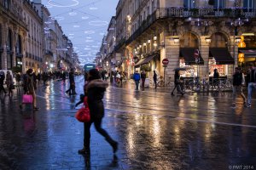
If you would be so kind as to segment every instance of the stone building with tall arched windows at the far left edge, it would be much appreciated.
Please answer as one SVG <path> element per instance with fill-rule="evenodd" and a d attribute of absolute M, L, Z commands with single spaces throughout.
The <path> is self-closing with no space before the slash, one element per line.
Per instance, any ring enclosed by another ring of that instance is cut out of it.
<path fill-rule="evenodd" d="M 26 19 L 23 1 L 0 1 L 0 69 L 12 69 L 25 64 Z"/>

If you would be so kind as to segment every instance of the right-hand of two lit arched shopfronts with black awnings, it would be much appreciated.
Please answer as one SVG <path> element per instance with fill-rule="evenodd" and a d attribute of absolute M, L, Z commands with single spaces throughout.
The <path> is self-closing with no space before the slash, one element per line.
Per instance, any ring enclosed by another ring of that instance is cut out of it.
<path fill-rule="evenodd" d="M 230 66 L 235 64 L 235 59 L 228 49 L 229 39 L 222 32 L 213 33 L 211 39 L 208 63 L 210 77 L 215 69 L 220 77 L 227 77 L 230 75 Z"/>

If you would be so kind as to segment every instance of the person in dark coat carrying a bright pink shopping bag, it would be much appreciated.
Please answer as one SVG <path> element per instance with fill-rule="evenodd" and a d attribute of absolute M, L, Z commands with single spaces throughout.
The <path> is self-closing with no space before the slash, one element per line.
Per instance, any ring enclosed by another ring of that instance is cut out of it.
<path fill-rule="evenodd" d="M 28 69 L 26 71 L 26 75 L 24 76 L 24 92 L 25 94 L 31 94 L 32 95 L 32 105 L 33 110 L 38 111 L 39 108 L 37 107 L 37 98 L 36 98 L 36 92 L 34 88 L 34 77 L 33 77 L 33 70 Z"/>

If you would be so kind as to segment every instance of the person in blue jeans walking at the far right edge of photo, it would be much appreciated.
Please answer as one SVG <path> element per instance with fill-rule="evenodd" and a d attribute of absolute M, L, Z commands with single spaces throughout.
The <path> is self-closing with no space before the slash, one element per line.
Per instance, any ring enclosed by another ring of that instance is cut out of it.
<path fill-rule="evenodd" d="M 249 82 L 248 82 L 248 96 L 247 96 L 246 106 L 251 107 L 253 89 L 256 88 L 256 68 L 254 67 L 253 63 L 250 63 L 250 70 L 249 70 L 249 74 L 247 74 L 247 77 L 249 77 Z"/>

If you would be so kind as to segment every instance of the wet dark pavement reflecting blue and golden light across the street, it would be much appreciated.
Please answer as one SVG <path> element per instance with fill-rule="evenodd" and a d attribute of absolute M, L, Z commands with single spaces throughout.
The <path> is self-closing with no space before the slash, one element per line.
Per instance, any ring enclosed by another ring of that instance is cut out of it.
<path fill-rule="evenodd" d="M 79 95 L 65 94 L 67 82 L 49 84 L 38 89 L 36 112 L 29 105 L 19 109 L 22 92 L 0 95 L 0 169 L 256 168 L 255 100 L 248 109 L 238 99 L 233 109 L 230 93 L 173 97 L 170 89 L 135 91 L 132 82 L 110 86 L 103 127 L 119 150 L 113 156 L 92 127 L 89 157 L 77 152 L 84 139 L 83 124 L 74 118 Z M 83 78 L 76 84 L 83 93 Z"/>

